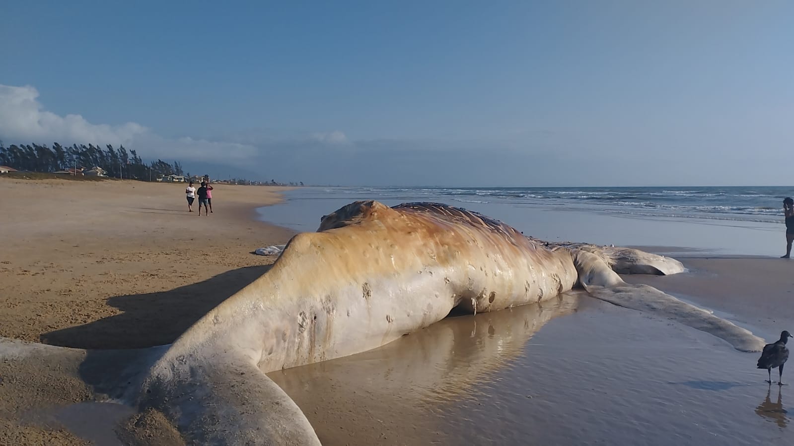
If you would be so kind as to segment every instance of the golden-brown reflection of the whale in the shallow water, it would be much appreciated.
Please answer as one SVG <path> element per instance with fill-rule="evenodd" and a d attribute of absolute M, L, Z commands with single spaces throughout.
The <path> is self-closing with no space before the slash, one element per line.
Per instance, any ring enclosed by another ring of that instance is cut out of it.
<path fill-rule="evenodd" d="M 579 292 L 569 291 L 539 304 L 446 317 L 381 348 L 268 376 L 306 413 L 323 444 L 410 444 L 414 432 L 421 443 L 437 430 L 439 406 L 484 396 L 480 389 L 495 372 L 578 302 Z"/>

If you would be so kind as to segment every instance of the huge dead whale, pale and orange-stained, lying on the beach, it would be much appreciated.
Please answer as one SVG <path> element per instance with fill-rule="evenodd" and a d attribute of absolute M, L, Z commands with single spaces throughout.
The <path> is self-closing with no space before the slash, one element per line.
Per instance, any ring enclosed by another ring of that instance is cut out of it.
<path fill-rule="evenodd" d="M 614 270 L 613 270 L 614 268 Z M 619 272 L 673 274 L 679 262 L 626 248 L 546 246 L 499 221 L 434 203 L 354 202 L 294 236 L 272 268 L 175 342 L 147 349 L 103 392 L 165 415 L 191 444 L 319 444 L 265 373 L 378 348 L 450 310 L 502 310 L 583 286 L 673 317 L 734 348 L 764 341 Z M 0 349 L 0 356 L 2 356 Z"/>

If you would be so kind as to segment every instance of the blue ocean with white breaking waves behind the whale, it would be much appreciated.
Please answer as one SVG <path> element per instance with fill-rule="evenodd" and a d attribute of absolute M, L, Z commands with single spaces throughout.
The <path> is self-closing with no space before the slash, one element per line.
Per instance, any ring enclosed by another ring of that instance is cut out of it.
<path fill-rule="evenodd" d="M 323 214 L 356 200 L 388 206 L 442 202 L 545 240 L 780 256 L 782 202 L 790 194 L 794 187 L 306 187 L 287 192 L 287 203 L 261 208 L 260 215 L 277 225 L 314 231 Z"/>

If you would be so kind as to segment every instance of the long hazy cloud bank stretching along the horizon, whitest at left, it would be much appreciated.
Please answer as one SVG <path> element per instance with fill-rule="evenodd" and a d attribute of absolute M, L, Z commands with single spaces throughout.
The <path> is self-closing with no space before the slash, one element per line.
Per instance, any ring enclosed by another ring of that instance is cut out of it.
<path fill-rule="evenodd" d="M 727 131 L 712 133 L 718 136 L 700 138 L 703 147 L 720 150 L 730 146 L 729 136 L 737 139 Z M 700 158 L 688 154 L 688 138 L 695 136 L 678 137 L 621 128 L 600 133 L 540 129 L 490 139 L 354 140 L 341 130 L 310 133 L 260 127 L 206 139 L 166 138 L 134 122 L 106 125 L 78 114 L 60 116 L 45 109 L 34 87 L 0 84 L 0 140 L 5 144 L 123 144 L 145 160 L 178 160 L 187 171 L 217 169 L 217 175 L 250 179 L 366 185 L 673 185 L 726 183 L 726 178 L 739 178 L 747 171 L 742 178 L 750 183 L 754 171 L 765 171 L 769 165 L 761 156 L 773 152 L 754 151 L 741 171 L 730 165 L 714 168 L 715 161 L 703 160 L 710 156 L 707 152 L 701 151 Z M 780 138 L 768 145 L 788 142 Z M 646 168 L 649 160 L 653 171 Z M 678 166 L 681 162 L 691 168 L 684 171 Z"/>

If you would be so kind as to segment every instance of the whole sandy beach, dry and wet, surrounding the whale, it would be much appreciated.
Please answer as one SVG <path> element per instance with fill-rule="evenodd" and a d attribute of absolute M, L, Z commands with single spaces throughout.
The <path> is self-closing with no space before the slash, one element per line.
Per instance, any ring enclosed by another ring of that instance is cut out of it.
<path fill-rule="evenodd" d="M 218 185 L 210 217 L 187 213 L 183 184 L 0 179 L 0 188 L 0 336 L 18 340 L 168 344 L 267 271 L 275 258 L 254 256 L 254 248 L 293 234 L 256 221 L 254 208 L 281 199 L 276 187 Z M 678 258 L 688 272 L 624 279 L 766 339 L 794 328 L 794 261 Z M 631 352 L 633 363 L 616 352 Z M 677 429 L 678 444 L 734 435 L 736 444 L 754 435 L 784 444 L 788 417 L 775 394 L 766 398 L 771 406 L 763 402 L 765 373 L 754 370 L 755 359 L 714 336 L 571 292 L 542 306 L 450 317 L 384 348 L 269 375 L 323 444 L 524 444 L 528 437 L 660 444 L 654 429 Z M 89 444 L 31 413 L 91 398 L 71 367 L 0 363 L 0 444 Z M 119 444 L 180 444 L 156 413 L 124 423 L 106 435 Z"/>

